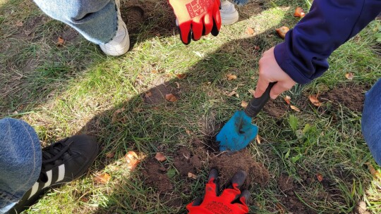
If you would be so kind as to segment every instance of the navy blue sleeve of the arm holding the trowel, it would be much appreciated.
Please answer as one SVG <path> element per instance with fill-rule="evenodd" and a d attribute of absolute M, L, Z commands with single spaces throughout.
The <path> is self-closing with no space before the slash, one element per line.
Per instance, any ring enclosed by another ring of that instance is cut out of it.
<path fill-rule="evenodd" d="M 381 12 L 381 0 L 315 0 L 310 12 L 275 46 L 278 65 L 295 82 L 320 77 L 327 58 Z"/>

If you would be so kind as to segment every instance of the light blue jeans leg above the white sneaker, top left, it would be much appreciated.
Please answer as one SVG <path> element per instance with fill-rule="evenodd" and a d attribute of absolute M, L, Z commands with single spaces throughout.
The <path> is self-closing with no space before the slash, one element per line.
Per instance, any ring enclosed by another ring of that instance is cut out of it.
<path fill-rule="evenodd" d="M 34 0 L 50 17 L 70 25 L 87 40 L 105 44 L 118 28 L 114 0 Z"/>

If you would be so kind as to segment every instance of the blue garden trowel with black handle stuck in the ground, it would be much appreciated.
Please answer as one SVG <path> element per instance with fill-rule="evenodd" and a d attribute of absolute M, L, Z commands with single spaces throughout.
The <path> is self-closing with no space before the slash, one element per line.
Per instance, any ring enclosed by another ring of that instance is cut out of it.
<path fill-rule="evenodd" d="M 270 90 L 275 83 L 270 82 L 262 96 L 251 99 L 245 111 L 236 111 L 233 117 L 226 122 L 216 137 L 216 141 L 219 141 L 220 151 L 239 151 L 253 141 L 258 134 L 258 127 L 251 124 L 251 119 L 258 115 L 270 99 Z"/>

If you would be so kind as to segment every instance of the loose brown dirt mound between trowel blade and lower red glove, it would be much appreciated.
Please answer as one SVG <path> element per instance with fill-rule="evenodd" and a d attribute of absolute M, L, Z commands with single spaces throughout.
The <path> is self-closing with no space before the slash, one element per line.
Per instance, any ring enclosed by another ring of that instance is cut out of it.
<path fill-rule="evenodd" d="M 210 166 L 219 170 L 220 184 L 229 184 L 231 177 L 238 171 L 244 170 L 248 173 L 246 179 L 248 184 L 257 183 L 265 186 L 270 180 L 270 173 L 262 163 L 256 162 L 250 155 L 247 149 L 234 153 L 223 153 L 219 156 L 214 156 L 210 160 Z"/>

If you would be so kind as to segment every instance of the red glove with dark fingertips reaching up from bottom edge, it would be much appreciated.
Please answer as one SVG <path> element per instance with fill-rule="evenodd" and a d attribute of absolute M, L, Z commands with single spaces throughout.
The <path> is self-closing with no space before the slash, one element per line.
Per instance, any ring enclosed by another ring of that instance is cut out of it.
<path fill-rule="evenodd" d="M 231 186 L 222 191 L 220 196 L 217 184 L 218 171 L 212 169 L 205 187 L 204 200 L 196 199 L 186 206 L 189 214 L 245 214 L 248 213 L 248 200 L 250 192 L 238 189 L 246 179 L 246 172 L 238 171 L 231 178 Z"/>

